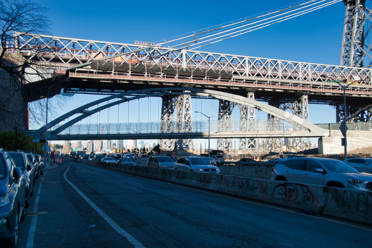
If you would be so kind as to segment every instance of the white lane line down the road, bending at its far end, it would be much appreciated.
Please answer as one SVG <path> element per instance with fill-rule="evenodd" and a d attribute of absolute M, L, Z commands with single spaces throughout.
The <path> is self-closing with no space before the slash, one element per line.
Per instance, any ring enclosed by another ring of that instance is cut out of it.
<path fill-rule="evenodd" d="M 96 204 L 94 204 L 89 198 L 87 198 L 86 195 L 83 194 L 83 192 L 81 192 L 75 185 L 73 185 L 66 177 L 66 173 L 68 171 L 68 169 L 70 169 L 70 166 L 67 166 L 67 170 L 65 171 L 65 173 L 63 174 L 63 177 L 64 179 L 66 180 L 66 182 L 68 182 L 68 184 L 71 185 L 71 187 L 73 187 L 77 193 L 79 193 L 79 195 L 81 195 L 82 198 L 84 198 L 84 200 L 86 200 L 87 203 L 89 203 L 90 206 L 92 206 L 92 208 L 97 211 L 97 213 L 102 216 L 103 219 L 105 219 L 105 221 L 107 221 L 107 223 L 110 224 L 110 226 L 112 226 L 113 229 L 115 229 L 116 232 L 118 232 L 120 235 L 124 236 L 129 242 L 131 242 L 131 244 L 136 247 L 136 248 L 145 248 L 144 245 L 142 245 L 140 243 L 140 241 L 138 241 L 137 239 L 135 239 L 132 235 L 128 234 L 128 232 L 124 231 L 118 224 L 116 224 L 115 221 L 113 221 L 108 215 L 106 215 L 105 212 L 102 211 L 102 209 L 100 209 L 99 207 L 97 207 Z"/>

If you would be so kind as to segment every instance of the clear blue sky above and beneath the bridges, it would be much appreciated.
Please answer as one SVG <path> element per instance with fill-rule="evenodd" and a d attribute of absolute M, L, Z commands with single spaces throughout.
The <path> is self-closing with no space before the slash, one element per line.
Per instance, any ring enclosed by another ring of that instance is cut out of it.
<path fill-rule="evenodd" d="M 55 36 L 110 42 L 134 43 L 135 40 L 151 42 L 166 39 L 203 29 L 220 23 L 267 12 L 291 5 L 293 1 L 37 1 L 49 8 L 53 22 L 52 34 Z M 341 38 L 345 6 L 337 3 L 314 12 L 286 20 L 242 36 L 234 37 L 200 50 L 262 58 L 284 59 L 338 65 L 340 62 Z M 101 98 L 96 95 L 75 95 L 61 110 L 72 110 L 79 105 Z M 198 101 L 198 102 L 196 102 Z M 200 101 L 193 99 L 193 111 L 200 111 Z M 151 119 L 148 115 L 148 102 L 130 105 L 129 116 L 135 122 L 159 121 L 157 98 L 151 99 Z M 213 107 L 212 107 L 213 104 Z M 119 121 L 128 121 L 128 104 L 121 105 Z M 155 110 L 154 110 L 155 109 Z M 331 123 L 336 121 L 336 110 L 328 105 L 310 105 L 312 123 Z M 110 110 L 110 122 L 118 121 L 118 109 Z M 213 115 L 218 111 L 217 100 L 203 102 L 202 111 Z M 105 116 L 105 113 L 101 113 Z M 97 117 L 92 117 L 93 119 Z M 217 120 L 217 117 L 215 117 Z M 234 118 L 234 117 L 233 117 Z M 236 118 L 236 117 L 235 117 Z M 266 118 L 262 112 L 259 118 Z M 193 120 L 205 120 L 194 113 Z M 96 120 L 97 121 L 97 120 Z M 101 123 L 107 122 L 101 117 Z M 83 121 L 82 123 L 86 123 Z M 152 144 L 154 141 L 151 141 Z M 317 142 L 312 139 L 312 142 Z M 204 140 L 195 140 L 195 144 Z M 195 145 L 196 146 L 196 145 Z M 211 142 L 215 147 L 215 141 Z"/>

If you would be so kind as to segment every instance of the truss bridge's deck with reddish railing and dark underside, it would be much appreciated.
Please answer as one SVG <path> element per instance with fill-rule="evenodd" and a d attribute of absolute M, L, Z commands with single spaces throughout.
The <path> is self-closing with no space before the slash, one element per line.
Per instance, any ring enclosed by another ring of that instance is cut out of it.
<path fill-rule="evenodd" d="M 203 78 L 179 78 L 169 76 L 147 75 L 109 75 L 70 72 L 70 82 L 64 89 L 68 93 L 105 94 L 112 95 L 138 89 L 159 87 L 193 87 L 213 89 L 236 95 L 244 95 L 242 90 L 255 90 L 255 99 L 268 101 L 271 98 L 290 98 L 291 94 L 307 92 L 309 102 L 316 104 L 336 105 L 343 102 L 343 91 L 331 83 L 317 84 L 316 82 L 301 82 L 287 80 L 278 82 L 268 78 L 233 78 L 230 81 Z M 258 80 L 260 79 L 260 80 Z M 359 85 L 346 91 L 347 101 L 365 102 L 371 100 L 372 87 Z"/>

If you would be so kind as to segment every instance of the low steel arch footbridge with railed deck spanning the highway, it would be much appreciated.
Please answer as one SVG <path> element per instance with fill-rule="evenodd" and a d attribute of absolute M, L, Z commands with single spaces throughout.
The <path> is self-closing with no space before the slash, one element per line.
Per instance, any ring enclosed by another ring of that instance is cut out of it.
<path fill-rule="evenodd" d="M 273 130 L 270 129 L 270 124 L 267 129 L 264 131 L 250 131 L 249 128 L 247 128 L 243 132 L 234 132 L 234 130 L 230 131 L 220 131 L 217 130 L 217 132 L 213 131 L 211 133 L 212 138 L 279 138 L 279 137 L 291 137 L 291 138 L 299 138 L 299 137 L 324 137 L 329 136 L 329 130 L 323 129 L 321 127 L 318 127 L 317 125 L 314 125 L 310 123 L 309 121 L 300 118 L 298 116 L 295 116 L 293 114 L 290 114 L 289 112 L 280 110 L 279 108 L 270 106 L 268 104 L 265 104 L 263 102 L 256 101 L 251 98 L 247 97 L 241 97 L 239 95 L 229 94 L 225 92 L 220 91 L 212 91 L 207 89 L 196 89 L 196 88 L 157 88 L 152 89 L 150 94 L 148 94 L 149 90 L 138 90 L 138 91 L 130 91 L 122 94 L 116 94 L 112 95 L 97 101 L 90 102 L 86 105 L 83 105 L 81 107 L 76 108 L 75 110 L 72 110 L 61 117 L 56 118 L 55 120 L 49 122 L 47 125 L 39 128 L 31 135 L 36 138 L 42 138 L 45 137 L 45 131 L 47 130 L 47 127 L 52 127 L 50 131 L 50 137 L 52 140 L 80 140 L 80 139 L 92 139 L 92 138 L 99 138 L 99 139 L 135 139 L 135 138 L 158 138 L 158 139 L 177 139 L 176 142 L 181 142 L 183 139 L 192 139 L 192 138 L 207 138 L 208 137 L 208 131 L 198 129 L 198 127 L 193 125 L 192 121 L 185 122 L 184 118 L 180 118 L 180 120 L 177 120 L 177 122 L 174 124 L 173 120 L 170 119 L 164 119 L 159 124 L 158 129 L 145 129 L 145 132 L 142 133 L 131 133 L 131 132 L 121 132 L 121 133 L 106 133 L 106 134 L 63 134 L 62 131 L 66 130 L 67 128 L 71 127 L 78 121 L 83 120 L 86 117 L 89 117 L 90 115 L 97 113 L 99 111 L 102 111 L 106 108 L 132 101 L 135 99 L 145 98 L 145 97 L 172 97 L 176 95 L 179 96 L 196 96 L 196 97 L 206 97 L 210 99 L 219 99 L 220 101 L 227 101 L 227 102 L 234 102 L 235 104 L 239 104 L 240 106 L 246 106 L 249 108 L 255 108 L 257 110 L 266 112 L 268 115 L 271 115 L 273 117 L 273 120 L 275 122 L 278 121 L 285 121 L 292 125 L 293 131 L 285 131 L 285 130 Z M 147 94 L 143 94 L 147 93 Z M 138 94 L 138 95 L 134 95 Z M 130 96 L 131 95 L 131 96 Z M 133 96 L 134 95 L 134 96 Z M 110 101 L 113 99 L 117 99 L 116 101 L 109 102 L 108 104 L 102 105 L 100 107 L 97 107 L 93 110 L 88 110 L 88 108 L 93 107 L 94 105 L 98 105 L 100 103 L 103 103 L 105 101 Z M 191 115 L 190 110 L 186 110 L 187 113 Z M 68 121 L 65 124 L 58 125 L 61 121 L 65 120 L 66 118 L 69 118 L 76 114 L 78 115 L 76 118 L 73 118 L 72 120 Z M 240 125 L 246 125 L 249 126 L 249 120 L 246 120 L 247 123 L 241 123 Z M 228 120 L 223 123 L 224 125 L 229 125 Z M 230 123 L 231 125 L 231 123 Z M 272 125 L 277 127 L 278 125 Z M 128 128 L 126 128 L 128 130 Z M 226 129 L 223 129 L 226 130 Z M 274 141 L 275 142 L 275 141 Z M 164 142 L 163 142 L 164 144 Z M 173 149 L 173 147 L 169 147 Z"/>

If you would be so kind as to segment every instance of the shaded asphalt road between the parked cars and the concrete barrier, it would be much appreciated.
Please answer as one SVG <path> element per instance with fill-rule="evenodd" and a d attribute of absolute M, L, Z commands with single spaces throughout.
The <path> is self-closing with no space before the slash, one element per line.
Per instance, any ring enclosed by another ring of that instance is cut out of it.
<path fill-rule="evenodd" d="M 368 226 L 66 160 L 36 180 L 26 213 L 38 191 L 48 213 L 19 247 L 371 247 Z"/>

